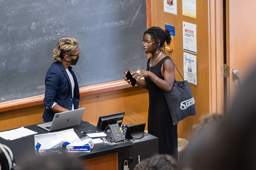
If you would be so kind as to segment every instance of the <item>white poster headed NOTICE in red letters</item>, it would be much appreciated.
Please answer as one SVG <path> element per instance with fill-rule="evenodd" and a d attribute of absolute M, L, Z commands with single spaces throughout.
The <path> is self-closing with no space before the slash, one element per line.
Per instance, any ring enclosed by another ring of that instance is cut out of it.
<path fill-rule="evenodd" d="M 183 23 L 183 50 L 197 53 L 197 26 L 192 23 Z"/>

